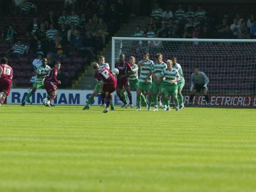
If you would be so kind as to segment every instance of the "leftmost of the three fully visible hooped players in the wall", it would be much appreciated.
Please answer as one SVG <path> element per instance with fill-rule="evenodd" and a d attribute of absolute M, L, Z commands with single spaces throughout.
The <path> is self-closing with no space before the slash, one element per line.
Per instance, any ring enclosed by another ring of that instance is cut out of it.
<path fill-rule="evenodd" d="M 152 101 L 152 75 L 151 75 L 151 67 L 153 65 L 153 61 L 149 59 L 149 53 L 144 52 L 143 60 L 138 63 L 138 67 L 140 67 L 140 82 L 137 90 L 137 109 L 140 111 L 141 109 L 141 95 L 143 92 L 147 92 L 148 100 L 145 102 L 147 104 L 147 110 L 150 111 L 150 105 Z M 137 110 L 136 109 L 136 110 Z"/>

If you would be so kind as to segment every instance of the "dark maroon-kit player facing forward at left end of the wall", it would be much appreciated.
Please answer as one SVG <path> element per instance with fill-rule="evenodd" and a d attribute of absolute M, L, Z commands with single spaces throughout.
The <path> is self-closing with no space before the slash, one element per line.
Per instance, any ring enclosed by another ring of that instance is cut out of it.
<path fill-rule="evenodd" d="M 115 68 L 118 68 L 119 73 L 117 76 L 117 88 L 116 88 L 116 93 L 119 97 L 119 99 L 124 103 L 121 107 L 122 108 L 127 108 L 127 102 L 122 96 L 123 93 L 126 91 L 129 101 L 130 101 L 130 106 L 133 108 L 132 105 L 132 93 L 130 91 L 130 84 L 129 84 L 129 79 L 128 77 L 132 74 L 132 67 L 130 63 L 125 61 L 125 55 L 120 54 L 120 61 L 115 63 Z"/>

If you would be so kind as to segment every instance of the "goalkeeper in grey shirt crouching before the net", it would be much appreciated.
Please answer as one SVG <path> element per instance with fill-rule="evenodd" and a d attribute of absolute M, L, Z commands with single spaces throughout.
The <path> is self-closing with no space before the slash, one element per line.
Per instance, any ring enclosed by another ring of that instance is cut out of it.
<path fill-rule="evenodd" d="M 211 107 L 211 104 L 209 103 L 209 97 L 207 95 L 208 83 L 209 83 L 209 78 L 205 75 L 205 73 L 200 72 L 198 70 L 198 67 L 194 67 L 194 72 L 191 75 L 191 88 L 190 88 L 191 95 L 189 96 L 189 106 L 193 104 L 195 93 L 202 92 L 204 94 L 207 106 Z"/>

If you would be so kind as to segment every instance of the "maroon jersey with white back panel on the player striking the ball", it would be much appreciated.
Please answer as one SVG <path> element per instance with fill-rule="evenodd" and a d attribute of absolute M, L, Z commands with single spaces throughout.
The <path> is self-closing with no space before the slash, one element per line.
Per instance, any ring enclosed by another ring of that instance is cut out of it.
<path fill-rule="evenodd" d="M 114 84 L 116 83 L 116 79 L 114 76 L 112 76 L 112 71 L 109 70 L 108 68 L 98 68 L 95 71 L 94 77 L 98 81 L 102 81 L 104 84 Z"/>

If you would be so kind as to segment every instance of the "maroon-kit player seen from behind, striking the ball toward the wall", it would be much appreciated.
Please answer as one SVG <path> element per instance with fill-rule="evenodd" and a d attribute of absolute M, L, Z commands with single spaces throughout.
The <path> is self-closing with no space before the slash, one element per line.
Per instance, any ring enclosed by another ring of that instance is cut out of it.
<path fill-rule="evenodd" d="M 109 104 L 112 100 L 112 93 L 116 90 L 116 79 L 115 74 L 108 68 L 100 67 L 98 63 L 92 63 L 92 70 L 95 79 L 100 83 L 100 93 L 107 93 L 107 104 L 106 108 L 102 111 L 103 113 L 108 112 Z"/>

